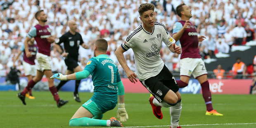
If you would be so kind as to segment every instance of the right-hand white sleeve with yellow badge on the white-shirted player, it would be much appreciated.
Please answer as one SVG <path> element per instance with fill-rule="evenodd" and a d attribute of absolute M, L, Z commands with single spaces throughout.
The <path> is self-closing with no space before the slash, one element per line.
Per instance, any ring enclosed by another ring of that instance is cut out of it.
<path fill-rule="evenodd" d="M 162 30 L 163 35 L 163 41 L 166 44 L 167 47 L 171 46 L 173 43 L 175 43 L 175 40 L 171 37 L 171 35 L 168 33 L 166 27 L 164 24 L 161 24 L 160 29 Z"/>

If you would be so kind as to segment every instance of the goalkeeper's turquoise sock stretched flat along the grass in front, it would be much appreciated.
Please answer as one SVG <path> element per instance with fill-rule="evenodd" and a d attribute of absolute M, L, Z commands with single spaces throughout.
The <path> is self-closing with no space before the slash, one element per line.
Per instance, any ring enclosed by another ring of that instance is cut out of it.
<path fill-rule="evenodd" d="M 107 126 L 107 120 L 90 119 L 87 117 L 74 118 L 69 121 L 69 126 Z"/>

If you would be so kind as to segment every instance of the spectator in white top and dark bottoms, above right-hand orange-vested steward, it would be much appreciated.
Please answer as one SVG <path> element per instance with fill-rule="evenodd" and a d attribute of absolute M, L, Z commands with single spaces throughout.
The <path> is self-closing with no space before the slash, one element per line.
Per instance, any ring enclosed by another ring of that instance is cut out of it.
<path fill-rule="evenodd" d="M 239 22 L 237 27 L 233 29 L 233 36 L 235 37 L 235 45 L 242 45 L 242 41 L 245 41 L 246 31 L 242 24 Z"/>

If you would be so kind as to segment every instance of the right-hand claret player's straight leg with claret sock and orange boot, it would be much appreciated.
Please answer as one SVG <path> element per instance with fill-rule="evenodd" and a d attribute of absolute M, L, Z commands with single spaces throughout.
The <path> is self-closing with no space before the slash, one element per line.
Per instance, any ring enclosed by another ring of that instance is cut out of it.
<path fill-rule="evenodd" d="M 202 95 L 206 104 L 206 115 L 223 116 L 216 110 L 213 110 L 211 102 L 211 91 L 209 88 L 209 81 L 207 78 L 207 71 L 202 59 L 199 59 L 199 65 L 194 69 L 193 76 L 201 84 Z"/>

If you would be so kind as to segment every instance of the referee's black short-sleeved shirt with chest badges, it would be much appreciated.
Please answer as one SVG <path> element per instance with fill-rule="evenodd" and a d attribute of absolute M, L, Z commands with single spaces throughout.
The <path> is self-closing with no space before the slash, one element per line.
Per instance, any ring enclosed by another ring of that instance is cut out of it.
<path fill-rule="evenodd" d="M 65 33 L 59 38 L 59 42 L 56 44 L 60 45 L 61 43 L 64 43 L 64 49 L 69 53 L 67 58 L 71 57 L 78 61 L 79 45 L 83 44 L 83 39 L 80 33 L 76 32 L 75 35 L 72 35 L 70 32 Z"/>

